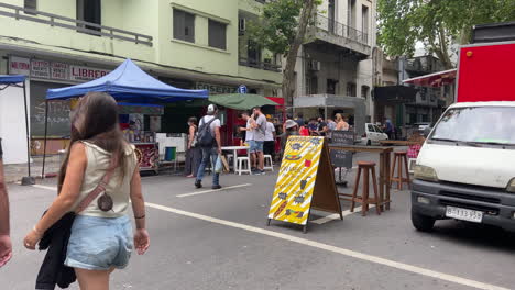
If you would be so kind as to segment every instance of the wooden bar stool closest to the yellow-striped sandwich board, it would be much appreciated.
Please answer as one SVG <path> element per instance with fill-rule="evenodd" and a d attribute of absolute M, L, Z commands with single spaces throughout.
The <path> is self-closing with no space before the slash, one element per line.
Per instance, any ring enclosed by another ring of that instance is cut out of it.
<path fill-rule="evenodd" d="M 361 171 L 363 171 L 363 193 L 358 197 L 358 187 L 360 186 Z M 369 198 L 369 171 L 372 172 L 372 183 L 374 190 L 374 198 Z M 354 212 L 355 202 L 361 203 L 361 215 L 365 216 L 369 211 L 369 203 L 375 204 L 375 211 L 381 214 L 380 196 L 377 192 L 377 178 L 375 177 L 375 163 L 358 161 L 358 175 L 355 176 L 354 191 L 351 199 L 351 212 Z"/>

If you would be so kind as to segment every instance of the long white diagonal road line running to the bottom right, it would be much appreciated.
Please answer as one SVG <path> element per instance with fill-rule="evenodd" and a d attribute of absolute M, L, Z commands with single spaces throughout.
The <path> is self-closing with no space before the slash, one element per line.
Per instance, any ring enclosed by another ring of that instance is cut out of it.
<path fill-rule="evenodd" d="M 198 213 L 194 213 L 194 212 L 187 212 L 187 211 L 183 211 L 183 210 L 178 210 L 178 209 L 173 209 L 173 208 L 168 208 L 168 207 L 164 207 L 164 205 L 155 204 L 155 203 L 151 203 L 151 202 L 145 202 L 145 204 L 149 208 L 172 212 L 172 213 L 175 213 L 175 214 L 202 220 L 202 221 L 206 221 L 206 222 L 227 225 L 227 226 L 231 226 L 231 227 L 235 227 L 235 228 L 240 228 L 240 230 L 244 230 L 244 231 L 249 231 L 249 232 L 253 232 L 253 233 L 258 233 L 258 234 L 262 234 L 262 235 L 266 235 L 266 236 L 282 238 L 282 239 L 293 242 L 293 243 L 297 243 L 297 244 L 302 244 L 302 245 L 305 245 L 305 246 L 310 246 L 310 247 L 314 247 L 314 248 L 319 248 L 319 249 L 337 253 L 337 254 L 348 256 L 348 257 L 352 257 L 352 258 L 357 258 L 357 259 L 360 259 L 360 260 L 365 260 L 365 261 L 370 261 L 370 263 L 374 263 L 374 264 L 396 268 L 396 269 L 413 272 L 413 274 L 418 274 L 418 275 L 423 275 L 423 276 L 427 276 L 427 277 L 431 277 L 431 278 L 436 278 L 436 279 L 440 279 L 440 280 L 446 280 L 446 281 L 449 281 L 449 282 L 454 282 L 454 283 L 459 283 L 459 285 L 463 285 L 463 286 L 468 286 L 468 287 L 474 287 L 474 288 L 483 289 L 483 290 L 508 290 L 508 288 L 504 288 L 504 287 L 500 287 L 500 286 L 495 286 L 495 285 L 483 283 L 483 282 L 480 282 L 480 281 L 474 281 L 474 280 L 470 280 L 470 279 L 467 279 L 467 278 L 462 278 L 462 277 L 458 277 L 458 276 L 453 276 L 453 275 L 449 275 L 449 274 L 445 274 L 445 272 L 434 271 L 434 270 L 429 270 L 429 269 L 417 267 L 417 266 L 412 266 L 412 265 L 404 264 L 404 263 L 398 263 L 398 261 L 394 261 L 394 260 L 390 260 L 390 259 L 385 259 L 385 258 L 381 258 L 381 257 L 376 257 L 376 256 L 372 256 L 372 255 L 368 255 L 368 254 L 363 254 L 363 253 L 341 248 L 341 247 L 327 245 L 327 244 L 324 244 L 324 243 L 310 241 L 310 239 L 303 238 L 303 237 L 292 236 L 292 235 L 270 231 L 270 230 L 264 230 L 264 228 L 260 228 L 260 227 L 255 227 L 255 226 L 250 226 L 250 225 L 245 225 L 245 224 L 240 224 L 240 223 L 234 223 L 234 222 L 230 222 L 230 221 L 226 221 L 226 220 L 220 220 L 220 219 L 216 219 L 216 217 L 211 217 L 211 216 L 207 216 L 207 215 L 202 215 L 202 214 L 198 214 Z"/>

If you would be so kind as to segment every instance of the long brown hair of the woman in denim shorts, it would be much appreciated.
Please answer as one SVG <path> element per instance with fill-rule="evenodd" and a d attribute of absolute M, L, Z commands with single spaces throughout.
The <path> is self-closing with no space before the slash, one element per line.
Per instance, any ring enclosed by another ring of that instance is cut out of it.
<path fill-rule="evenodd" d="M 72 136 L 66 158 L 61 166 L 58 193 L 66 177 L 72 146 L 79 141 L 87 141 L 111 153 L 117 158 L 117 166 L 125 168 L 125 146 L 118 124 L 117 101 L 105 92 L 88 92 L 77 104 L 72 115 Z M 122 178 L 125 172 L 122 171 Z"/>

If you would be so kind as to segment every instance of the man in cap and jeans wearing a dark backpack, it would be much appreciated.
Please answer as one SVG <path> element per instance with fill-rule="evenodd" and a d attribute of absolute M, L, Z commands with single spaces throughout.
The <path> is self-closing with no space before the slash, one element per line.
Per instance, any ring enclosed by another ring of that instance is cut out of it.
<path fill-rule="evenodd" d="M 211 160 L 212 165 L 212 189 L 220 189 L 220 174 L 215 172 L 215 165 L 221 155 L 220 119 L 217 118 L 218 108 L 215 104 L 208 107 L 207 114 L 200 119 L 197 134 L 197 145 L 202 150 L 202 160 L 198 167 L 195 187 L 202 187 L 202 178 L 206 166 Z"/>

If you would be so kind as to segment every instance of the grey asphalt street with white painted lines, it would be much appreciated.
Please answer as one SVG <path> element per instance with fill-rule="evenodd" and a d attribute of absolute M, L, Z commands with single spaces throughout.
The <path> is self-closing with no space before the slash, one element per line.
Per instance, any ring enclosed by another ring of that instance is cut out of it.
<path fill-rule="evenodd" d="M 358 154 L 355 159 L 374 159 Z M 351 174 L 348 179 L 352 179 Z M 454 221 L 416 232 L 409 192 L 393 191 L 392 210 L 317 224 L 309 232 L 266 214 L 276 176 L 221 177 L 211 191 L 174 176 L 143 178 L 151 248 L 113 275 L 112 289 L 511 289 L 515 237 Z M 250 185 L 250 186 L 249 186 Z M 352 185 L 352 182 L 351 182 Z M 44 253 L 21 241 L 55 196 L 55 179 L 11 185 L 13 260 L 2 289 L 33 289 Z M 341 189 L 350 191 L 350 189 Z M 198 194 L 189 194 L 198 193 Z M 177 197 L 182 196 L 182 197 Z M 343 210 L 348 210 L 343 202 Z M 316 212 L 311 221 L 329 213 Z M 78 289 L 75 285 L 72 289 Z"/>

